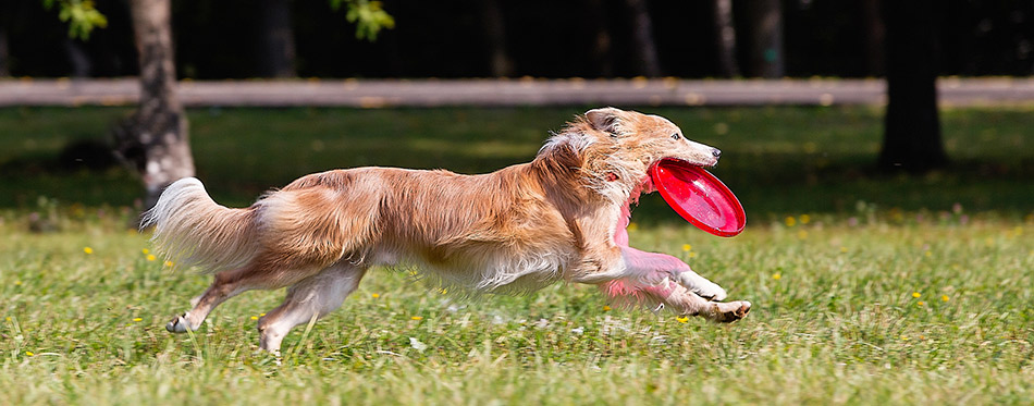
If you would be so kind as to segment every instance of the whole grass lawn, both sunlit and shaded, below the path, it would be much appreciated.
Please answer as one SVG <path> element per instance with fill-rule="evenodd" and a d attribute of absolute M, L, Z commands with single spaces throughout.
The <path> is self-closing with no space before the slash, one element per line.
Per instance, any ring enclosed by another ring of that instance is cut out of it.
<path fill-rule="evenodd" d="M 327 168 L 527 160 L 575 112 L 206 110 L 192 128 L 200 176 L 220 201 L 246 205 Z M 747 319 L 610 309 L 595 290 L 562 284 L 459 300 L 379 270 L 341 310 L 296 329 L 278 365 L 257 350 L 255 318 L 282 292 L 244 294 L 196 334 L 168 334 L 208 279 L 170 272 L 125 229 L 138 188 L 124 171 L 59 169 L 64 144 L 98 137 L 123 111 L 0 110 L 16 135 L 0 137 L 0 404 L 1034 398 L 1032 111 L 945 112 L 956 164 L 924 176 L 866 167 L 879 142 L 869 109 L 658 112 L 725 151 L 714 173 L 749 225 L 713 237 L 648 200 L 632 245 L 751 300 Z"/>

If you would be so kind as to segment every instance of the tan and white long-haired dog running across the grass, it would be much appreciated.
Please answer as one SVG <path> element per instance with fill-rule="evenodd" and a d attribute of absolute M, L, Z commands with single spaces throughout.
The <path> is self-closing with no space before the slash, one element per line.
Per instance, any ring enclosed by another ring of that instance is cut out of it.
<path fill-rule="evenodd" d="M 216 204 L 200 181 L 171 184 L 143 217 L 179 266 L 214 273 L 170 332 L 197 330 L 222 302 L 290 286 L 259 319 L 278 353 L 295 325 L 342 305 L 371 267 L 414 267 L 447 285 L 531 291 L 557 281 L 613 298 L 728 322 L 750 311 L 681 260 L 628 245 L 630 205 L 655 190 L 664 158 L 713 167 L 721 151 L 670 121 L 615 108 L 578 115 L 531 162 L 480 175 L 355 168 L 303 176 L 247 208 Z"/>

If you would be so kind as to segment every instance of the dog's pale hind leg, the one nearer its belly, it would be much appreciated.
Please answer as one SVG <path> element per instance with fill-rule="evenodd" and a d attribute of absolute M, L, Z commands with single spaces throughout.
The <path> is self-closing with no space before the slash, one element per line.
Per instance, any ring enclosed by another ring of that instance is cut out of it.
<path fill-rule="evenodd" d="M 292 328 L 341 307 L 345 297 L 359 286 L 364 274 L 366 268 L 342 261 L 291 286 L 284 303 L 259 319 L 259 347 L 280 352 L 280 343 Z"/>

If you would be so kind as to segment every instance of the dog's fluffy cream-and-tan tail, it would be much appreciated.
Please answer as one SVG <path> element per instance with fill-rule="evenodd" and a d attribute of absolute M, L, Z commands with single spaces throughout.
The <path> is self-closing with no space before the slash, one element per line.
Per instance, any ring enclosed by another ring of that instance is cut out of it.
<path fill-rule="evenodd" d="M 177 268 L 218 272 L 244 266 L 256 251 L 255 207 L 220 206 L 195 177 L 179 180 L 162 192 L 140 222 L 141 230 L 151 225 L 156 248 Z"/>

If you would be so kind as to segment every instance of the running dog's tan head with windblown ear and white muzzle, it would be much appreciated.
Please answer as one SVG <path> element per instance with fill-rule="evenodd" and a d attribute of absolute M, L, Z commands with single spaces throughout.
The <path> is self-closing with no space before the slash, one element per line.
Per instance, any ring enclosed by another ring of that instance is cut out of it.
<path fill-rule="evenodd" d="M 651 165 L 665 158 L 714 167 L 722 151 L 686 138 L 667 119 L 615 108 L 589 110 L 554 135 L 542 159 L 577 168 L 586 185 L 615 201 L 653 192 Z"/>

